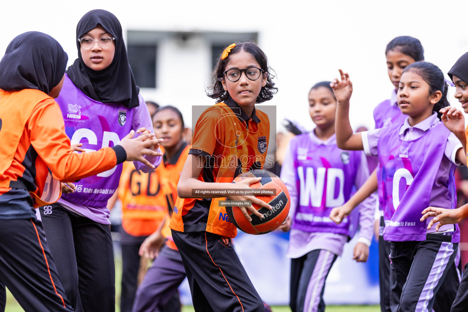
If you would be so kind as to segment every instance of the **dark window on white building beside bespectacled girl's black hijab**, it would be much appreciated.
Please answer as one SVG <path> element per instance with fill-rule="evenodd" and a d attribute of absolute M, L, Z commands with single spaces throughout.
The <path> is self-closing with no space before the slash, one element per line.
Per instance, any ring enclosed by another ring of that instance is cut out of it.
<path fill-rule="evenodd" d="M 128 62 L 139 87 L 156 87 L 156 45 L 127 46 Z"/>

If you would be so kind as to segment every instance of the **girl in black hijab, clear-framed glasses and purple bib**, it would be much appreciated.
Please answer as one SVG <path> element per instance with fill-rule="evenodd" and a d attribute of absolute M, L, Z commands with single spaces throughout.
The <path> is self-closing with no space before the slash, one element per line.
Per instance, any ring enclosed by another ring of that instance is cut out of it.
<path fill-rule="evenodd" d="M 78 59 L 68 67 L 57 98 L 72 144 L 81 143 L 84 150 L 94 151 L 117 145 L 131 130 L 136 136 L 142 131 L 154 133 L 128 64 L 117 17 L 104 10 L 88 12 L 78 22 L 75 40 Z M 146 157 L 146 161 L 157 167 L 161 157 Z M 135 162 L 135 167 L 152 170 L 141 162 Z M 39 209 L 60 280 L 76 311 L 115 311 L 114 255 L 106 205 L 121 171 L 120 164 L 76 181 L 69 194 Z"/>

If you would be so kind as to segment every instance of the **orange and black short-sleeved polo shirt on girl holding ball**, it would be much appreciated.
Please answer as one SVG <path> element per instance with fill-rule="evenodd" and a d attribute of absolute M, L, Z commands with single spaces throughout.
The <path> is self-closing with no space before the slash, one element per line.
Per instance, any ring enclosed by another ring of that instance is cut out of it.
<path fill-rule="evenodd" d="M 211 106 L 197 120 L 189 152 L 206 159 L 198 180 L 232 182 L 241 172 L 262 169 L 269 138 L 270 121 L 262 111 L 254 108 L 249 117 L 232 99 Z M 218 204 L 224 199 L 178 197 L 170 228 L 234 238 L 237 229 Z"/>

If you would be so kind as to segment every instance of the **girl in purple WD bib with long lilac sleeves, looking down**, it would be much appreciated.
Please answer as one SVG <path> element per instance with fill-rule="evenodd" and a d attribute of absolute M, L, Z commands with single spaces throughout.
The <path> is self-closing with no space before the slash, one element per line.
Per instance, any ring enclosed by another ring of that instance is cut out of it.
<path fill-rule="evenodd" d="M 336 146 L 336 99 L 330 82 L 316 84 L 309 92 L 309 113 L 314 131 L 291 139 L 281 179 L 291 197 L 291 234 L 287 256 L 291 259 L 290 306 L 292 312 L 323 312 L 325 280 L 344 244 L 361 225 L 354 247 L 356 261 L 365 262 L 373 235 L 376 204 L 369 197 L 345 222 L 336 225 L 330 210 L 342 205 L 369 177 L 363 152 Z M 289 218 L 289 217 L 288 217 Z M 286 222 L 286 224 L 288 224 Z M 288 230 L 283 227 L 283 230 Z"/>

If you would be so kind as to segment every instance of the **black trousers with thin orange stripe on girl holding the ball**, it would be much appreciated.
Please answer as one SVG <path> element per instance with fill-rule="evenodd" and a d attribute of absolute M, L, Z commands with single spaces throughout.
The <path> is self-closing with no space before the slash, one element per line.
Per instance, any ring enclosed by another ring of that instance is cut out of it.
<path fill-rule="evenodd" d="M 196 312 L 264 312 L 265 306 L 230 239 L 172 231 L 182 257 Z"/>

